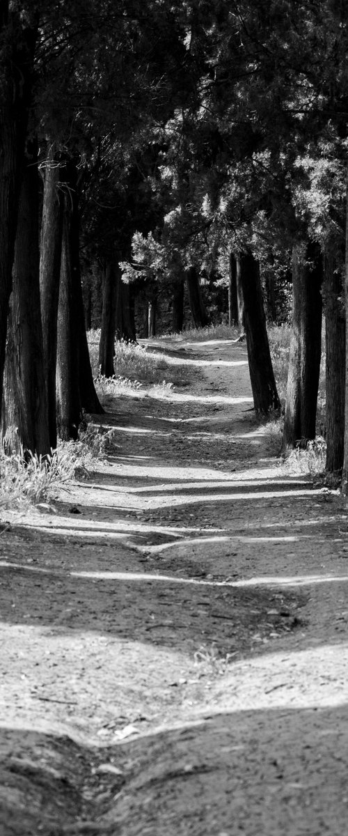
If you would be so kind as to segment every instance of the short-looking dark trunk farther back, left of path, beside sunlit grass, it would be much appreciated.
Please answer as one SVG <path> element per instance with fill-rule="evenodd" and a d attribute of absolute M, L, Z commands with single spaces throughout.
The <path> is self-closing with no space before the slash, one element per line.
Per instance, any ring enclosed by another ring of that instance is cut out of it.
<path fill-rule="evenodd" d="M 100 372 L 113 377 L 113 352 L 116 331 L 117 280 L 113 263 L 103 269 L 103 312 L 99 343 Z"/>

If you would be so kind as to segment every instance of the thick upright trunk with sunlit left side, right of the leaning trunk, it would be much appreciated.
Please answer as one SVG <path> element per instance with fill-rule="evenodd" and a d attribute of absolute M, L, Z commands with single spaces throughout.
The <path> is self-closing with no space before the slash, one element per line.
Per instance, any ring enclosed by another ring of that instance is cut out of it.
<path fill-rule="evenodd" d="M 321 354 L 322 261 L 314 245 L 293 248 L 293 326 L 283 446 L 315 438 Z"/>

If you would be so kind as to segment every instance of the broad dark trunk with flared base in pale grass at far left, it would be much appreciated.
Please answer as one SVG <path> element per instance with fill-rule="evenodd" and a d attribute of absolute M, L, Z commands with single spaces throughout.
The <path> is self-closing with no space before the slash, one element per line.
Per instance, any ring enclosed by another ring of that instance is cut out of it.
<path fill-rule="evenodd" d="M 50 442 L 40 314 L 35 141 L 28 149 L 19 199 L 4 382 L 4 441 L 8 452 L 23 447 L 24 451 L 46 456 Z"/>

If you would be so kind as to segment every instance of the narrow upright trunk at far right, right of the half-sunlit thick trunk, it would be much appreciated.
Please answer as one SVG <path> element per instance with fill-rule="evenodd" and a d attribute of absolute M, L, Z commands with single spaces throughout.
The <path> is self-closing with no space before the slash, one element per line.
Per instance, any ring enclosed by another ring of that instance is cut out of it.
<path fill-rule="evenodd" d="M 326 343 L 326 471 L 340 472 L 345 441 L 345 311 L 338 242 L 330 242 L 324 259 Z"/>

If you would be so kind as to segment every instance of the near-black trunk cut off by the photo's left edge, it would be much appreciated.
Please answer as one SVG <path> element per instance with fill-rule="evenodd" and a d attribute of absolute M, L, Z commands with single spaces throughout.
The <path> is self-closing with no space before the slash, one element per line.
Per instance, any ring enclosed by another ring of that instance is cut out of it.
<path fill-rule="evenodd" d="M 0 40 L 3 43 L 0 59 L 0 410 L 8 302 L 12 290 L 14 242 L 37 32 L 35 12 L 32 19 L 27 17 L 23 24 L 20 9 L 10 8 L 8 0 L 3 0 L 0 5 Z"/>

